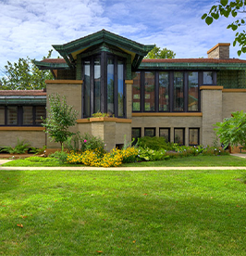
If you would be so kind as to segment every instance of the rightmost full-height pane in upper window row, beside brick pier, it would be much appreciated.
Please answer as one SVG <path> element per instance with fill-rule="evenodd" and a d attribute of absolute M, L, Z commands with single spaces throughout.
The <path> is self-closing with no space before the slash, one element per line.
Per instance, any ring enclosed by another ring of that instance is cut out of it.
<path fill-rule="evenodd" d="M 198 72 L 189 72 L 188 110 L 198 111 Z"/>

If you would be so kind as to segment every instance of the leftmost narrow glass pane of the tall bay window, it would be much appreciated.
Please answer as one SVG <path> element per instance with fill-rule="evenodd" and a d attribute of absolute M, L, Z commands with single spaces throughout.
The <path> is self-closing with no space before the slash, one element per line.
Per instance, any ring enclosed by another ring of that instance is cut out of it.
<path fill-rule="evenodd" d="M 90 61 L 84 61 L 84 114 L 91 116 L 91 71 Z"/>

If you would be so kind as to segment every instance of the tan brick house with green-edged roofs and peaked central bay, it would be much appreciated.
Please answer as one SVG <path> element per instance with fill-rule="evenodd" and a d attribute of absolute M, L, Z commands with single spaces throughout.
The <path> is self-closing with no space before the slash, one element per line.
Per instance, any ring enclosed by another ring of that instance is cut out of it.
<path fill-rule="evenodd" d="M 144 135 L 212 146 L 213 124 L 246 111 L 246 60 L 229 58 L 229 44 L 215 45 L 207 58 L 144 59 L 154 45 L 103 30 L 53 47 L 62 58 L 35 62 L 54 75 L 45 91 L 0 91 L 0 146 L 19 137 L 59 147 L 40 118 L 55 93 L 79 112 L 72 130 L 102 137 L 107 150 Z M 111 117 L 92 118 L 96 112 Z"/>

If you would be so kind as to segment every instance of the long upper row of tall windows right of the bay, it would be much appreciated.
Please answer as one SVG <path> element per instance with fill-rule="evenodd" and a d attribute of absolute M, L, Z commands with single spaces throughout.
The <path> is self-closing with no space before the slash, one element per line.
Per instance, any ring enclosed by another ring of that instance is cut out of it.
<path fill-rule="evenodd" d="M 138 71 L 133 73 L 132 110 L 200 111 L 200 85 L 214 84 L 212 71 Z"/>

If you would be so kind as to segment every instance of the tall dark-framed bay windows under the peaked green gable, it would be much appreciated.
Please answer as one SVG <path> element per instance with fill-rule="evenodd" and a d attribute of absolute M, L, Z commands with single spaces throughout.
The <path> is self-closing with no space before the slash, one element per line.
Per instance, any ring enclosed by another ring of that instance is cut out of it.
<path fill-rule="evenodd" d="M 82 117 L 93 113 L 126 116 L 125 58 L 102 52 L 82 60 Z"/>

